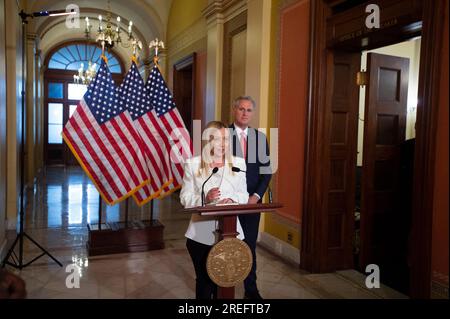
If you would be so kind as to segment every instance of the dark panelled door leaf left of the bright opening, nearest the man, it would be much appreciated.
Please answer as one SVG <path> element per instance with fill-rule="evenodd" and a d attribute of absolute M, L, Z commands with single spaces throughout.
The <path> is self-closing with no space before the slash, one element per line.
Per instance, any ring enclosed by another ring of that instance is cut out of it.
<path fill-rule="evenodd" d="M 325 231 L 323 271 L 353 267 L 355 223 L 355 167 L 359 87 L 359 53 L 330 54 L 327 81 L 327 136 L 325 138 Z"/>

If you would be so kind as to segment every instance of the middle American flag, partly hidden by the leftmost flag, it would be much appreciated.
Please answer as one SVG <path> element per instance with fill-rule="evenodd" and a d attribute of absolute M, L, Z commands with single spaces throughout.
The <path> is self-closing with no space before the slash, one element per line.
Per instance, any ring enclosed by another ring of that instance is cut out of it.
<path fill-rule="evenodd" d="M 125 80 L 120 86 L 120 105 L 131 114 L 134 126 L 144 141 L 144 154 L 150 170 L 151 181 L 133 197 L 139 205 L 144 205 L 153 198 L 157 198 L 161 191 L 172 184 L 168 153 L 155 125 L 159 119 L 152 112 L 152 105 L 145 94 L 145 85 L 139 70 L 133 61 Z"/>

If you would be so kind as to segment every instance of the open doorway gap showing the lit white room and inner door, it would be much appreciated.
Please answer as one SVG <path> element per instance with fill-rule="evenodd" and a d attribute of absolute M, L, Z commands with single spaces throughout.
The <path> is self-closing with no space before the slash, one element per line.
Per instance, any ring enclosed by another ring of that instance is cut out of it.
<path fill-rule="evenodd" d="M 355 269 L 409 294 L 421 38 L 363 51 L 355 187 Z"/>

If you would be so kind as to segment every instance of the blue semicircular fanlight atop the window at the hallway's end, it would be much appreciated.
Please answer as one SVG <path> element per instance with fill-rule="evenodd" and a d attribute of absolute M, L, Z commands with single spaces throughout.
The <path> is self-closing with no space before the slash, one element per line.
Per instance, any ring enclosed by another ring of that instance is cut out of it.
<path fill-rule="evenodd" d="M 101 48 L 94 44 L 69 44 L 58 49 L 50 57 L 49 69 L 77 71 L 81 63 L 87 68 L 89 61 L 100 66 Z M 122 73 L 119 60 L 113 54 L 105 52 L 111 73 Z"/>

